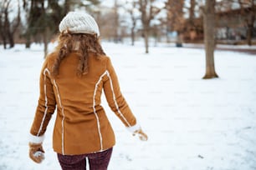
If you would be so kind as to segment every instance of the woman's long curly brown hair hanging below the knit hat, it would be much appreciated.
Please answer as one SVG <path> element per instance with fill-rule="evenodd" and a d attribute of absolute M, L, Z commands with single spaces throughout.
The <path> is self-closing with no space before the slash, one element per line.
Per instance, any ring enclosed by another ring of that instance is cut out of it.
<path fill-rule="evenodd" d="M 55 48 L 58 56 L 54 61 L 51 72 L 54 77 L 59 75 L 60 62 L 74 50 L 79 55 L 79 64 L 77 67 L 77 75 L 79 77 L 88 72 L 87 60 L 90 52 L 97 59 L 101 55 L 105 55 L 96 34 L 61 32 L 59 34 L 58 46 Z"/>

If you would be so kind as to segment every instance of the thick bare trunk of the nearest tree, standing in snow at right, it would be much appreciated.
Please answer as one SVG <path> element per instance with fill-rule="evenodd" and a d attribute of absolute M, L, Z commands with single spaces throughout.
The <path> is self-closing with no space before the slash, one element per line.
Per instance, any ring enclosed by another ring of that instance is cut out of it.
<path fill-rule="evenodd" d="M 206 74 L 204 79 L 218 77 L 214 67 L 215 48 L 215 0 L 206 0 L 203 9 L 203 31 L 206 53 Z"/>

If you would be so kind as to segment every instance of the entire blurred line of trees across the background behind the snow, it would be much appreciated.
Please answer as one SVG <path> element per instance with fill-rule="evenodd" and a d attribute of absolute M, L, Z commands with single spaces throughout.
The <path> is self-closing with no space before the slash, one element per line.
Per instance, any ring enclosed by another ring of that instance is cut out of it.
<path fill-rule="evenodd" d="M 256 0 L 113 0 L 112 7 L 104 7 L 102 2 L 2 0 L 0 42 L 4 48 L 14 47 L 18 41 L 26 47 L 32 42 L 42 42 L 46 55 L 48 43 L 59 32 L 60 20 L 69 11 L 80 10 L 95 17 L 101 38 L 123 42 L 131 37 L 131 45 L 141 38 L 146 53 L 151 39 L 155 39 L 155 45 L 165 41 L 176 42 L 177 47 L 182 47 L 183 42 L 204 43 L 207 63 L 204 77 L 210 78 L 218 77 L 213 59 L 216 43 L 244 43 L 245 39 L 252 45 L 256 37 Z"/>

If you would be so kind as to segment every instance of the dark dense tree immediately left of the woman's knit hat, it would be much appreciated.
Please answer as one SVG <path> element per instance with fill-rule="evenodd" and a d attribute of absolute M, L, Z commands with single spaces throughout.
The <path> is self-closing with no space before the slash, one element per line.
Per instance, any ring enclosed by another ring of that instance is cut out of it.
<path fill-rule="evenodd" d="M 74 7 L 86 8 L 88 9 L 86 11 L 90 12 L 90 7 L 99 3 L 99 0 L 65 0 L 63 4 L 59 3 L 59 0 L 23 0 L 23 8 L 28 14 L 26 47 L 29 47 L 31 38 L 38 39 L 38 42 L 44 42 L 44 56 L 46 56 L 48 43 L 53 35 L 59 32 L 58 24 L 64 15 Z"/>

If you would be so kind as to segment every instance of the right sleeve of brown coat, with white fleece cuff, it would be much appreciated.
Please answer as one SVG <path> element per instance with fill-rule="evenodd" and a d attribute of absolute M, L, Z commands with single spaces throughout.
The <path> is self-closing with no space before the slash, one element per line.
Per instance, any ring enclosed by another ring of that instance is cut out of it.
<path fill-rule="evenodd" d="M 107 57 L 106 69 L 105 81 L 103 82 L 106 100 L 111 110 L 125 124 L 125 127 L 133 133 L 141 127 L 120 92 L 118 78 L 109 57 Z"/>

